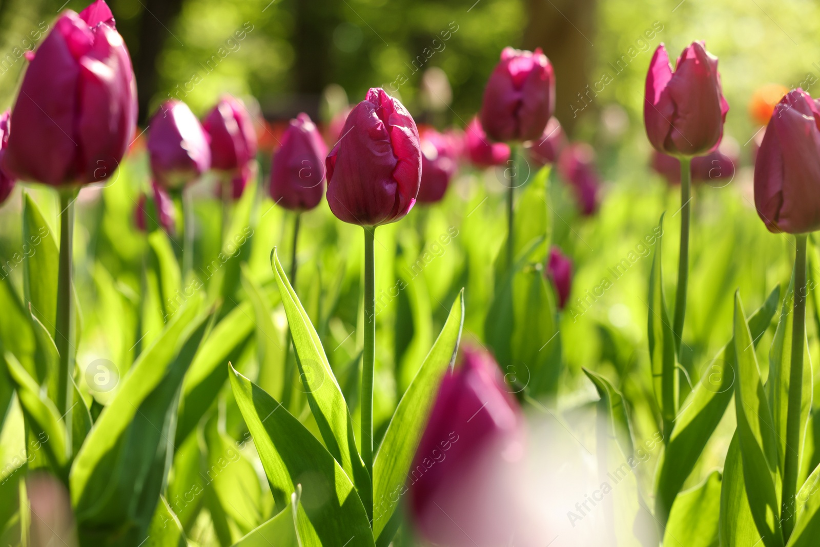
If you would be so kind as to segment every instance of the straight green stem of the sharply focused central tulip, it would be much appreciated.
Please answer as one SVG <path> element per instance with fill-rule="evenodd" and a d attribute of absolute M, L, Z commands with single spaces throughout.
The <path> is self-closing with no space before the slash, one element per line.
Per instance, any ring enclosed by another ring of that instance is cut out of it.
<path fill-rule="evenodd" d="M 364 349 L 362 358 L 362 460 L 369 476 L 373 476 L 373 372 L 376 365 L 376 267 L 373 261 L 373 239 L 376 226 L 364 226 Z M 369 495 L 373 499 L 371 479 Z M 371 519 L 372 502 L 367 517 Z"/>

